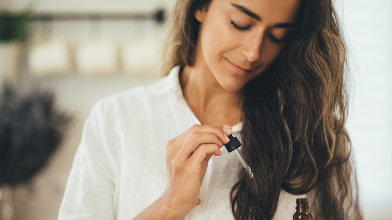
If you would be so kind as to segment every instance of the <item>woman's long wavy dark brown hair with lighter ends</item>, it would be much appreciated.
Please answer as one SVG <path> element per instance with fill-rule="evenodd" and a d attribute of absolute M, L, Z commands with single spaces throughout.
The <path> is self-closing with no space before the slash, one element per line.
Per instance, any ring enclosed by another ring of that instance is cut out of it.
<path fill-rule="evenodd" d="M 210 1 L 177 1 L 163 71 L 193 65 L 199 22 Z M 344 129 L 346 47 L 332 0 L 302 0 L 285 49 L 242 98 L 242 152 L 254 172 L 241 169 L 230 192 L 236 219 L 272 219 L 280 191 L 307 194 L 315 219 L 362 219 Z"/>

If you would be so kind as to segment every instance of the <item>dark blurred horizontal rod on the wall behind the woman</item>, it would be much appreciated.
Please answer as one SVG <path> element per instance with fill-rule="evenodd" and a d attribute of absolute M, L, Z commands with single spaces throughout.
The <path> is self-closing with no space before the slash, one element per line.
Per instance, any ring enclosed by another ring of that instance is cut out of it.
<path fill-rule="evenodd" d="M 33 13 L 33 21 L 50 20 L 155 20 L 161 23 L 164 19 L 163 9 L 154 13 Z"/>

